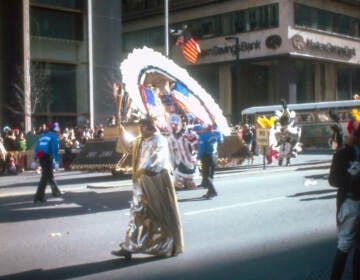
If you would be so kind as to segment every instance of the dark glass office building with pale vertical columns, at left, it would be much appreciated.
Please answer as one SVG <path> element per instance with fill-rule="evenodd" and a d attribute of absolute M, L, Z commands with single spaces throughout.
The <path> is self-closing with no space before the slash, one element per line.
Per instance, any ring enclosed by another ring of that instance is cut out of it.
<path fill-rule="evenodd" d="M 120 80 L 121 1 L 0 2 L 0 124 L 105 123 Z"/>

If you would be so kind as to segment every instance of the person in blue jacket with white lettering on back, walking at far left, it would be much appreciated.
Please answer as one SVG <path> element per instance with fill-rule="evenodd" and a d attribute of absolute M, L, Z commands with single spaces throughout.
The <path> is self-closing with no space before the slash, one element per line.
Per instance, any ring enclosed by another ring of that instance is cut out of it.
<path fill-rule="evenodd" d="M 34 203 L 46 202 L 45 189 L 50 184 L 52 195 L 58 197 L 61 192 L 54 179 L 53 169 L 59 168 L 59 140 L 57 133 L 60 133 L 60 126 L 57 122 L 50 123 L 48 130 L 38 139 L 35 151 L 34 161 L 40 163 L 41 178 L 34 197 Z"/>

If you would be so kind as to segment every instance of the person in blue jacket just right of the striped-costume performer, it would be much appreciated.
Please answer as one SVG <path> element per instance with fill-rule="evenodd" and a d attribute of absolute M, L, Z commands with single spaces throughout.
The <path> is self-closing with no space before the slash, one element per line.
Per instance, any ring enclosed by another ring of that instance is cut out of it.
<path fill-rule="evenodd" d="M 214 171 L 217 163 L 217 146 L 223 143 L 224 138 L 216 125 L 203 125 L 199 131 L 197 159 L 201 162 L 201 186 L 207 188 L 203 198 L 210 199 L 217 196 L 213 183 Z"/>

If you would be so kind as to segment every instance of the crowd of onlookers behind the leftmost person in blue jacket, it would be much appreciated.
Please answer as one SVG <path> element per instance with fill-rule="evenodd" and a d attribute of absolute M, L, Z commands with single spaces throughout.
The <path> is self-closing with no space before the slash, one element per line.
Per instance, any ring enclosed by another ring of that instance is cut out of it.
<path fill-rule="evenodd" d="M 34 149 L 38 137 L 47 129 L 44 123 L 28 133 L 22 129 L 4 126 L 0 133 L 0 175 L 17 174 L 26 169 L 27 151 Z M 103 125 L 95 128 L 64 127 L 59 134 L 59 148 L 65 151 L 66 164 L 73 159 L 71 149 L 81 149 L 90 139 L 102 138 Z"/>

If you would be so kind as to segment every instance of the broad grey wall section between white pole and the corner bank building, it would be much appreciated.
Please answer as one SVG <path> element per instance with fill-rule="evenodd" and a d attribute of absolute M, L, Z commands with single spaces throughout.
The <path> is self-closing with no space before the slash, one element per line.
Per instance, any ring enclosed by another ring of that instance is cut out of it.
<path fill-rule="evenodd" d="M 121 1 L 92 1 L 94 122 L 106 124 L 115 114 L 112 84 L 121 82 Z"/>

